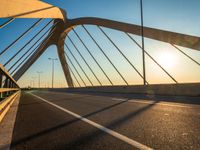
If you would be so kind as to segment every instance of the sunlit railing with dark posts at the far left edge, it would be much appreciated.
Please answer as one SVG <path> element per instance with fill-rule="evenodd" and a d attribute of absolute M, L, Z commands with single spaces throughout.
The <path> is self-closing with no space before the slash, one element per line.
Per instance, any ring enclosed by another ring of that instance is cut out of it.
<path fill-rule="evenodd" d="M 10 76 L 7 70 L 0 64 L 0 102 L 20 90 L 17 82 Z"/>

